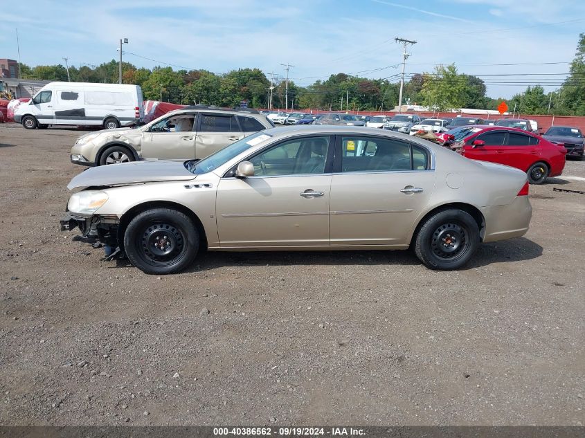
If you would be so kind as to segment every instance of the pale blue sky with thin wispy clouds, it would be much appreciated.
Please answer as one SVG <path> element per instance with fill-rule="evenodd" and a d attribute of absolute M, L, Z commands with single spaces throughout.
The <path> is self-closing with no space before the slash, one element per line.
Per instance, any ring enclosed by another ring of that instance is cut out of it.
<path fill-rule="evenodd" d="M 455 62 L 494 98 L 557 88 L 585 32 L 585 2 L 565 0 L 30 0 L 3 5 L 1 17 L 0 57 L 17 58 L 18 28 L 30 66 L 97 65 L 127 37 L 124 60 L 136 66 L 284 77 L 289 62 L 300 85 L 340 72 L 394 80 L 403 37 L 417 41 L 407 74 Z"/>

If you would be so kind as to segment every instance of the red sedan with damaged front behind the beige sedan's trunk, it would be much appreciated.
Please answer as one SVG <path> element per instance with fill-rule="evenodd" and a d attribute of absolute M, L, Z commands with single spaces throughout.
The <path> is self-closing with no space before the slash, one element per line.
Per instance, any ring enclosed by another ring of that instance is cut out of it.
<path fill-rule="evenodd" d="M 532 184 L 559 176 L 565 167 L 566 149 L 562 145 L 522 129 L 475 125 L 452 134 L 456 142 L 453 149 L 463 156 L 516 167 L 528 174 Z"/>

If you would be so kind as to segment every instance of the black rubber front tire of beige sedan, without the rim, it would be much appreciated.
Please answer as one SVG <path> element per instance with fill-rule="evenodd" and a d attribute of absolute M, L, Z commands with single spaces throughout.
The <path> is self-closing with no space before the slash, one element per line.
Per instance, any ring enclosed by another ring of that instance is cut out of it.
<path fill-rule="evenodd" d="M 156 221 L 169 221 L 179 228 L 185 237 L 186 251 L 175 262 L 168 266 L 156 266 L 149 264 L 141 256 L 141 239 L 145 226 Z M 130 223 L 124 233 L 124 249 L 129 261 L 144 273 L 152 275 L 165 275 L 182 271 L 190 266 L 199 250 L 199 232 L 195 223 L 184 213 L 170 208 L 153 208 L 138 214 Z"/>

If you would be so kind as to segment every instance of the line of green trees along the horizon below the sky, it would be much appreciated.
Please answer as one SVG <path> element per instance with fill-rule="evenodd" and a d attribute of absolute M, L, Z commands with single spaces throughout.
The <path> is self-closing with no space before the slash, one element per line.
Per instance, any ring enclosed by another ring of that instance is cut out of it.
<path fill-rule="evenodd" d="M 125 84 L 140 85 L 146 100 L 163 100 L 179 104 L 210 104 L 235 107 L 243 100 L 249 107 L 267 108 L 271 81 L 260 69 L 237 69 L 225 74 L 206 70 L 178 70 L 156 66 L 152 70 L 122 64 Z M 99 66 L 69 67 L 74 82 L 118 82 L 118 62 L 111 60 Z M 41 80 L 67 80 L 62 64 L 30 67 L 21 64 L 21 77 Z M 285 80 L 272 84 L 272 105 L 284 108 Z M 309 86 L 298 86 L 289 80 L 289 108 L 325 109 L 332 111 L 388 111 L 398 102 L 399 84 L 390 78 L 368 79 L 337 73 L 327 80 Z M 455 108 L 496 109 L 503 98 L 489 98 L 480 77 L 458 73 L 455 64 L 436 66 L 433 72 L 416 73 L 404 84 L 403 103 L 422 104 L 438 111 Z M 557 115 L 585 116 L 585 34 L 579 35 L 575 60 L 570 75 L 561 87 L 545 93 L 542 86 L 528 86 L 507 100 L 510 111 Z"/>

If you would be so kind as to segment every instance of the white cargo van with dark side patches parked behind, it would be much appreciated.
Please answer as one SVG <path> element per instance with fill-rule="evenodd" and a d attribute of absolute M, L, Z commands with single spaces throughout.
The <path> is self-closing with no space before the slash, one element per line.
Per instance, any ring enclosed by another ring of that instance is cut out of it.
<path fill-rule="evenodd" d="M 144 117 L 138 85 L 51 82 L 15 112 L 26 129 L 48 125 L 102 125 L 106 129 L 136 125 Z"/>

